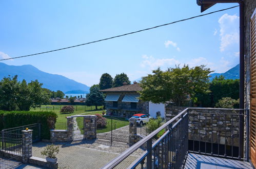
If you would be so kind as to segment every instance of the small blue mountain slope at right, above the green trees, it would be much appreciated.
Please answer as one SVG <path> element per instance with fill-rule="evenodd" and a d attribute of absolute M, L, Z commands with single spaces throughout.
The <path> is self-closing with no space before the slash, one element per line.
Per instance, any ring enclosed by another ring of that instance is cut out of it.
<path fill-rule="evenodd" d="M 239 70 L 240 70 L 240 64 L 237 66 L 229 69 L 227 72 L 224 73 L 212 73 L 210 74 L 210 80 L 212 80 L 215 76 L 223 75 L 225 79 L 239 79 Z"/>

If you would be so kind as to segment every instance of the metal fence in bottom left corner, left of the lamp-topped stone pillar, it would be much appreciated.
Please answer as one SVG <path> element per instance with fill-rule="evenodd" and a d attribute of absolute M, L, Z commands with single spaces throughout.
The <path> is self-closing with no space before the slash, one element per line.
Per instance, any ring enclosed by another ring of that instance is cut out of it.
<path fill-rule="evenodd" d="M 0 168 L 11 168 L 22 161 L 22 134 L 0 132 Z"/>

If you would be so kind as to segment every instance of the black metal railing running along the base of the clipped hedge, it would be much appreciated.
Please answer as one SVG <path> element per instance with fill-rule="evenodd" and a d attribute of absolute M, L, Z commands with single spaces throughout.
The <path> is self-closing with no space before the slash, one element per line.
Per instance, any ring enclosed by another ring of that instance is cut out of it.
<path fill-rule="evenodd" d="M 18 126 L 16 128 L 9 128 L 2 130 L 3 133 L 22 134 L 26 128 L 33 130 L 32 141 L 37 142 L 41 140 L 41 123 L 34 123 L 29 125 Z"/>

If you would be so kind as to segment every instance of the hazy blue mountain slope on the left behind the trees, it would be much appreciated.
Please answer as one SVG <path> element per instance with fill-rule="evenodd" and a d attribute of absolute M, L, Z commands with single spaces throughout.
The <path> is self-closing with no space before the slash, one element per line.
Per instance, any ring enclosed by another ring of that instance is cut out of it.
<path fill-rule="evenodd" d="M 82 90 L 89 92 L 90 87 L 69 79 L 62 75 L 43 72 L 32 65 L 11 66 L 0 62 L 0 79 L 3 77 L 18 75 L 18 81 L 25 79 L 27 82 L 38 80 L 43 83 L 43 88 L 52 91 L 61 90 L 64 93 L 73 90 Z"/>

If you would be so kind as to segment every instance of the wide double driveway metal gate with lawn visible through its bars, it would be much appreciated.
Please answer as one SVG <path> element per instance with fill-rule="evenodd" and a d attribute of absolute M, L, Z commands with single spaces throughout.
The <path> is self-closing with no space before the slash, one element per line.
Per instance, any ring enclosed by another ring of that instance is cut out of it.
<path fill-rule="evenodd" d="M 102 126 L 98 119 L 96 120 L 96 138 L 109 140 L 112 142 L 129 143 L 129 121 L 119 117 L 104 116 L 106 126 Z"/>

